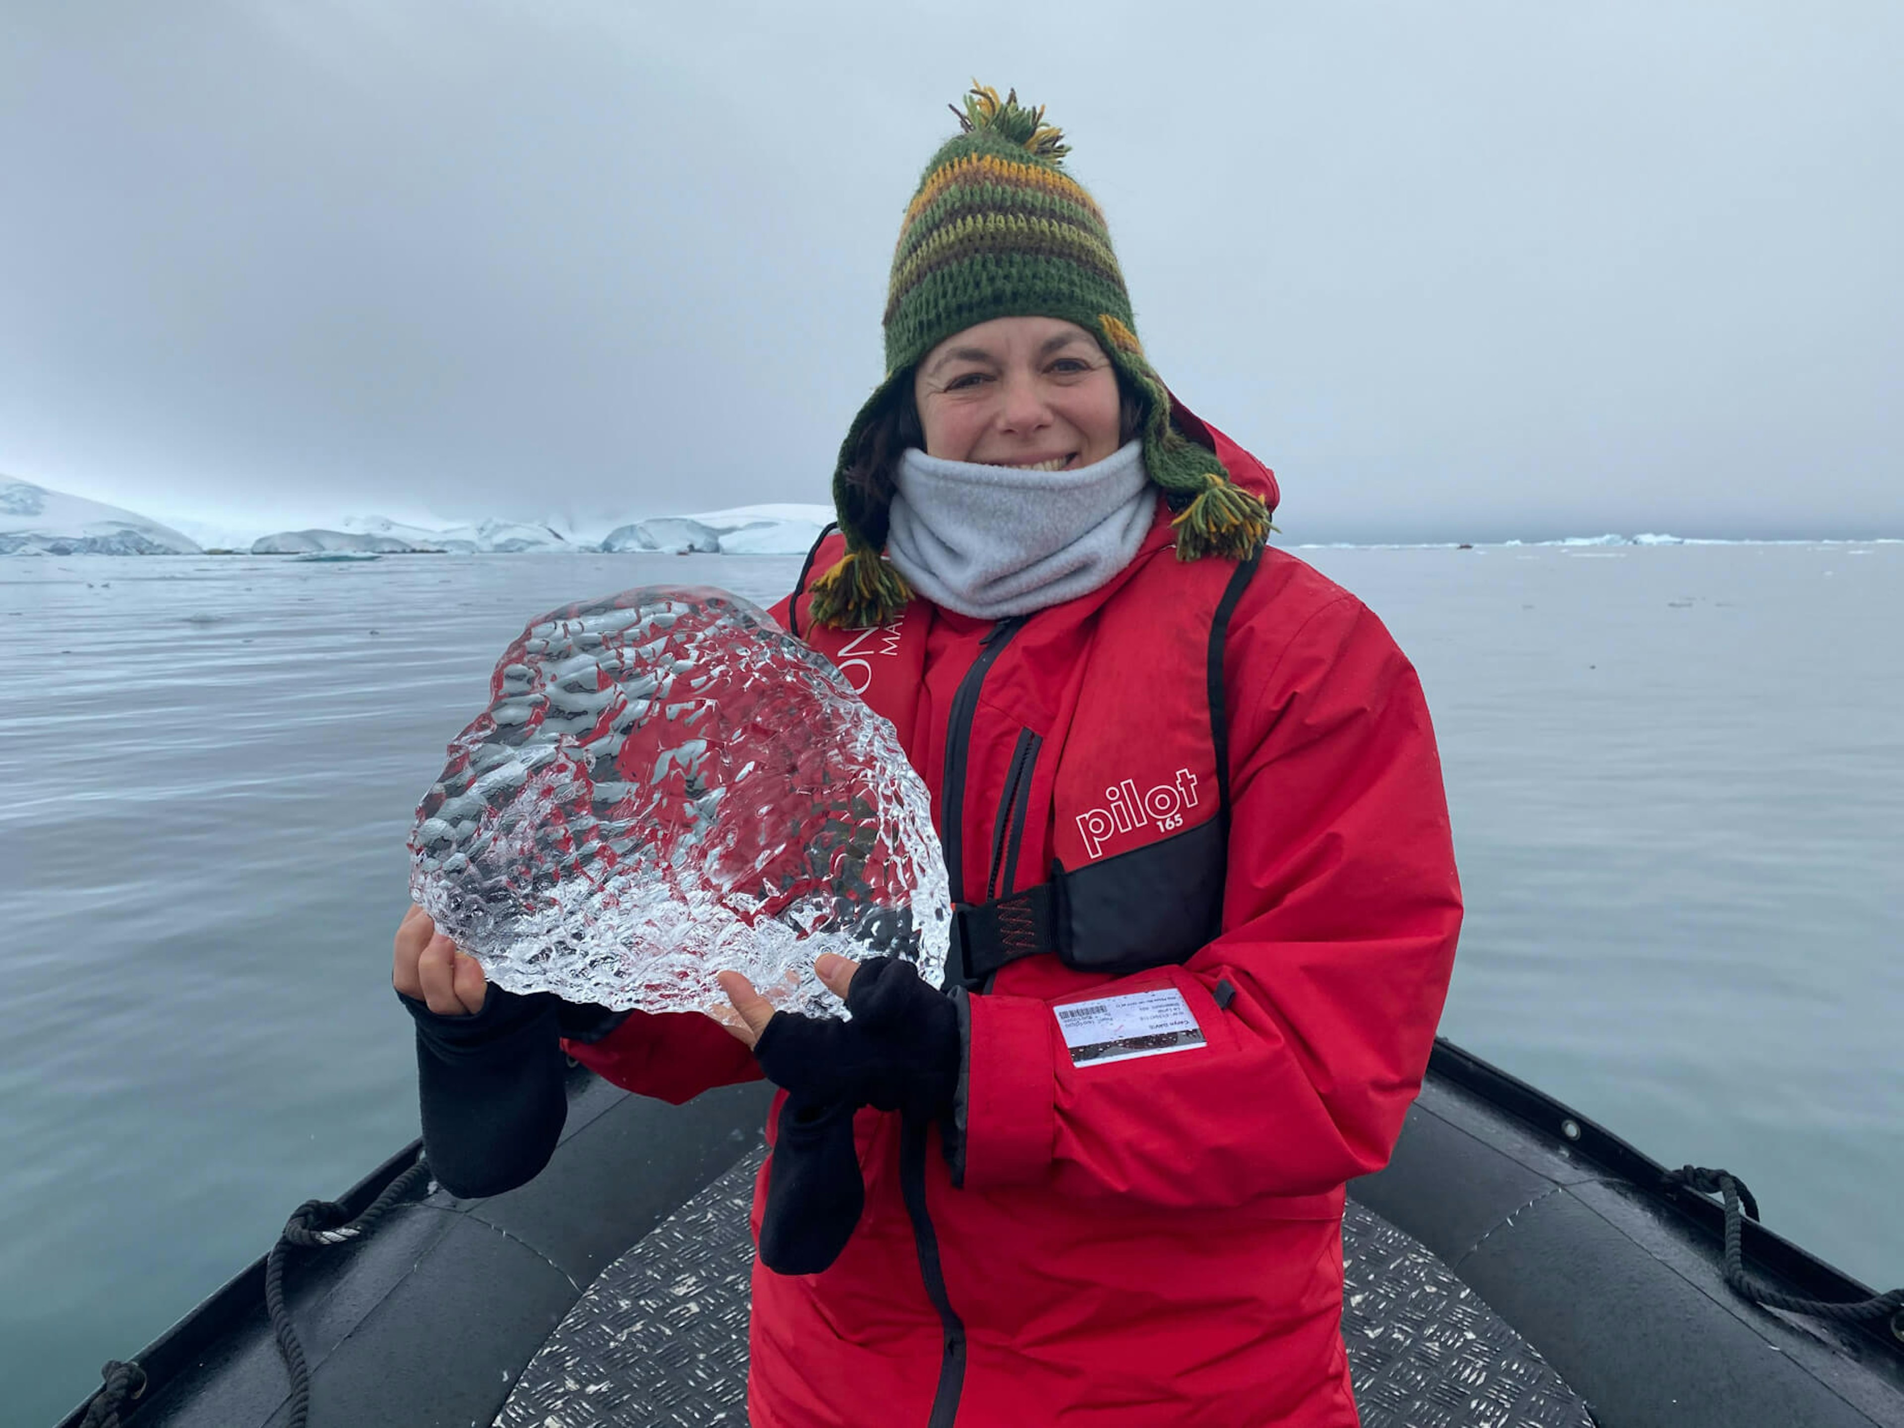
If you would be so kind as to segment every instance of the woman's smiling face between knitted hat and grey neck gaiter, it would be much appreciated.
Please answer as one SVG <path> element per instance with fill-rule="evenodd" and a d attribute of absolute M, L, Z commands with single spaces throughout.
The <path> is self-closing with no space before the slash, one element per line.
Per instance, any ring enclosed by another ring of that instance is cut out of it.
<path fill-rule="evenodd" d="M 1118 373 L 1083 327 L 994 318 L 946 337 L 912 377 L 925 455 L 1074 470 L 1121 442 Z"/>

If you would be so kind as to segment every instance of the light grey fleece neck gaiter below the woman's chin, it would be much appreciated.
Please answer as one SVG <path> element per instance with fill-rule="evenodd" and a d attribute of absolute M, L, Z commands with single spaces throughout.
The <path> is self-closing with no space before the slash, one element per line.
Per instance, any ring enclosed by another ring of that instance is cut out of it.
<path fill-rule="evenodd" d="M 895 486 L 885 535 L 893 569 L 935 605 L 975 619 L 1089 594 L 1131 564 L 1158 508 L 1140 440 L 1078 470 L 910 449 Z"/>

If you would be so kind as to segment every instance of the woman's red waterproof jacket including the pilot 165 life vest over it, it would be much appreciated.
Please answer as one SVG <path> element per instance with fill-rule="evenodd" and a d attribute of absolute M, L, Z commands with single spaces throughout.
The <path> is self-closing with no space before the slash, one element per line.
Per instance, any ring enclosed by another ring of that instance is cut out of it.
<path fill-rule="evenodd" d="M 1386 1163 L 1453 967 L 1439 760 L 1361 602 L 1171 546 L 1160 501 L 1110 585 L 1000 625 L 775 611 L 899 729 L 990 975 L 954 992 L 956 1125 L 859 1112 L 845 1251 L 756 1262 L 760 1428 L 1356 1424 L 1342 1184 Z M 668 1101 L 758 1076 L 695 1013 L 569 1051 Z"/>

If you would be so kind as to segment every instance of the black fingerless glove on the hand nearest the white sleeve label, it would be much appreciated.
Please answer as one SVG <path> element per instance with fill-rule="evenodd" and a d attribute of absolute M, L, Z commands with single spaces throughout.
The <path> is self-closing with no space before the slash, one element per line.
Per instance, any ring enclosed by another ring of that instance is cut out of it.
<path fill-rule="evenodd" d="M 853 1238 L 866 1205 L 853 1112 L 939 1118 L 958 1089 L 958 1009 L 910 962 L 863 962 L 845 1005 L 845 1022 L 775 1013 L 754 1043 L 786 1089 L 760 1222 L 760 1262 L 775 1274 L 819 1274 Z"/>

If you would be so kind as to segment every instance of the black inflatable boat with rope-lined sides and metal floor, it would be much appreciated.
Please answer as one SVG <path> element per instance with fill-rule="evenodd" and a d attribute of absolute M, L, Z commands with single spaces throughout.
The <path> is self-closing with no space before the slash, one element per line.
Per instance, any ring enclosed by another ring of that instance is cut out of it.
<path fill-rule="evenodd" d="M 430 1184 L 411 1144 L 61 1428 L 744 1422 L 769 1089 L 666 1106 L 575 1068 L 554 1160 L 489 1200 Z M 1904 1295 L 1447 1041 L 1392 1163 L 1348 1192 L 1365 1428 L 1904 1424 Z"/>

